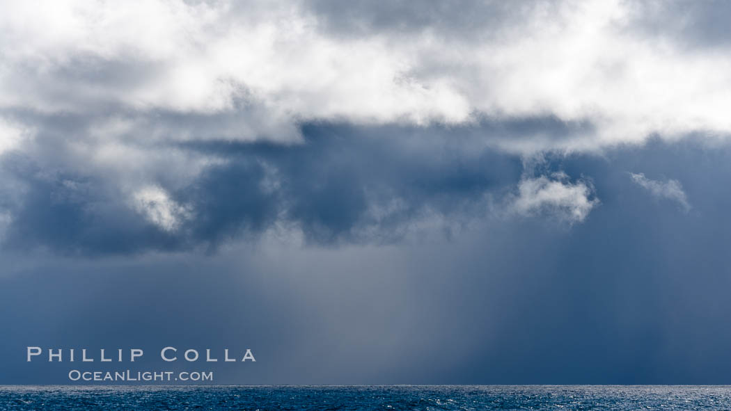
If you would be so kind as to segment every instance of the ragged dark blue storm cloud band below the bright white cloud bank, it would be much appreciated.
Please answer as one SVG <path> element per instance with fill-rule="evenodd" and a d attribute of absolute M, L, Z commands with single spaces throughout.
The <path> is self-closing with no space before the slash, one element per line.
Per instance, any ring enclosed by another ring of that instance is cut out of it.
<path fill-rule="evenodd" d="M 53 158 L 64 146 L 43 148 L 45 162 L 7 154 L 5 174 L 26 189 L 9 205 L 15 217 L 4 244 L 91 254 L 216 247 L 256 239 L 277 222 L 294 223 L 320 244 L 393 242 L 409 224 L 429 218 L 425 213 L 454 223 L 484 218 L 485 195 L 512 190 L 520 158 L 485 145 L 483 133 L 520 138 L 569 127 L 552 118 L 456 130 L 310 124 L 302 128 L 305 141 L 295 145 L 183 143 L 176 150 L 221 161 L 183 185 L 161 180 L 171 199 L 193 210 L 174 231 L 147 222 L 118 191 L 114 175 L 64 169 Z M 76 128 L 83 126 L 62 122 L 56 132 Z"/>

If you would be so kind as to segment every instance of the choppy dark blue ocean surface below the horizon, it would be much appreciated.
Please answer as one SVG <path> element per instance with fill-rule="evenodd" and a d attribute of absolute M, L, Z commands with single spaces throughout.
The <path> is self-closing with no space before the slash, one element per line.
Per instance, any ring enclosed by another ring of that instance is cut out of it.
<path fill-rule="evenodd" d="M 731 410 L 731 386 L 0 386 L 0 410 Z"/>

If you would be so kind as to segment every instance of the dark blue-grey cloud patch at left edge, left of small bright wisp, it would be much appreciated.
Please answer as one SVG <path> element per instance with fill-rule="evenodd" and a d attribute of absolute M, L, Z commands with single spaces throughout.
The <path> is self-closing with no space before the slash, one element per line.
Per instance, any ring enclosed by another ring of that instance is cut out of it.
<path fill-rule="evenodd" d="M 7 204 L 13 215 L 7 249 L 107 254 L 179 247 L 180 239 L 140 220 L 105 180 L 41 169 L 23 156 L 6 155 L 2 166 L 23 187 Z"/>

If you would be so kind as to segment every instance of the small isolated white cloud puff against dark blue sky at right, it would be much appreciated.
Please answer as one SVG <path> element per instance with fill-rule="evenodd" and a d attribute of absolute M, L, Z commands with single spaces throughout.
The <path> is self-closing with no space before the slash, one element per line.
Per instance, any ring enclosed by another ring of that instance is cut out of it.
<path fill-rule="evenodd" d="M 580 223 L 599 204 L 599 199 L 592 198 L 593 191 L 586 182 L 570 183 L 564 173 L 523 178 L 509 210 L 523 216 L 545 213 L 568 223 Z"/>

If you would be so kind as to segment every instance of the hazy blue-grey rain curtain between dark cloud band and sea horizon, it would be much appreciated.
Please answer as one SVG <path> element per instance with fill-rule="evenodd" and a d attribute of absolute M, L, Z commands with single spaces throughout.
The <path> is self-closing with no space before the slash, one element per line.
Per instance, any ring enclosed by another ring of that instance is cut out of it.
<path fill-rule="evenodd" d="M 15 331 L 0 382 L 64 382 L 67 364 L 29 366 L 26 345 L 154 357 L 172 340 L 255 349 L 255 367 L 209 364 L 217 383 L 728 383 L 729 155 L 660 140 L 548 155 L 548 171 L 591 174 L 602 193 L 570 230 L 486 218 L 379 247 L 39 256 L 2 280 L 0 326 Z M 693 209 L 656 201 L 629 171 L 677 180 Z"/>

